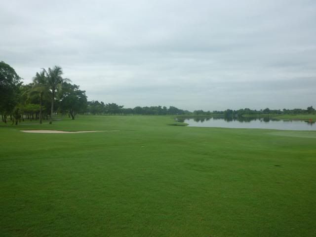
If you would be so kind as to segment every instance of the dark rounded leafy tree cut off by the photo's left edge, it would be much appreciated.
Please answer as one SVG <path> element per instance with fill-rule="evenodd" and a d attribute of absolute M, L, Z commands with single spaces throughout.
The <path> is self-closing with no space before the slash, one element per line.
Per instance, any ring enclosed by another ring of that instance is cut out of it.
<path fill-rule="evenodd" d="M 21 78 L 10 65 L 0 62 L 0 113 L 6 122 L 6 115 L 12 114 L 14 107 L 18 103 L 19 87 Z"/>

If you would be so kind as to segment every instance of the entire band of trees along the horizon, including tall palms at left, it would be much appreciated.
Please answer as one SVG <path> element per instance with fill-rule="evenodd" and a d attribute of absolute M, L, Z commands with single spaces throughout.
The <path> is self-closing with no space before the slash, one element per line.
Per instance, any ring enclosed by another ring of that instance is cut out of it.
<path fill-rule="evenodd" d="M 33 82 L 23 84 L 22 79 L 15 70 L 3 61 L 0 62 L 0 114 L 3 122 L 8 119 L 12 124 L 18 124 L 24 119 L 43 119 L 52 123 L 56 114 L 68 115 L 75 119 L 77 114 L 85 115 L 193 115 L 239 117 L 242 115 L 281 115 L 281 114 L 315 114 L 310 106 L 304 109 L 283 110 L 240 110 L 227 109 L 225 111 L 203 111 L 178 109 L 174 106 L 146 106 L 124 108 L 116 103 L 104 103 L 97 100 L 87 101 L 84 90 L 79 85 L 70 83 L 71 80 L 63 78 L 61 67 L 55 66 L 42 69 L 33 77 Z"/>

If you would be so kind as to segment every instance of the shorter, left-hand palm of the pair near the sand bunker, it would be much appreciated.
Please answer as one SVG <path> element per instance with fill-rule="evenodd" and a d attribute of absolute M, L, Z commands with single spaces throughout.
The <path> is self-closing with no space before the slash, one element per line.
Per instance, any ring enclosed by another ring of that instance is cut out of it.
<path fill-rule="evenodd" d="M 33 78 L 34 86 L 30 91 L 29 95 L 39 95 L 40 96 L 40 123 L 41 123 L 41 114 L 42 114 L 42 101 L 43 95 L 49 91 L 47 77 L 45 75 L 45 69 L 43 69 L 40 73 L 36 73 L 35 77 Z"/>

